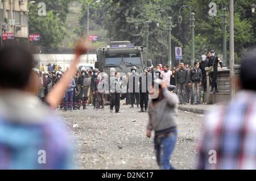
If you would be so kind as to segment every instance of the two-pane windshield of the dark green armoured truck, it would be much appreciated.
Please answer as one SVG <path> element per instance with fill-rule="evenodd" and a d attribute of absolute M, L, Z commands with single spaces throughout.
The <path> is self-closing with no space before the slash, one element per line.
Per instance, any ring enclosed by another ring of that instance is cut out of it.
<path fill-rule="evenodd" d="M 105 65 L 118 66 L 121 61 L 124 61 L 127 65 L 141 65 L 141 56 L 139 53 L 127 53 L 127 54 L 109 54 L 106 55 Z"/>

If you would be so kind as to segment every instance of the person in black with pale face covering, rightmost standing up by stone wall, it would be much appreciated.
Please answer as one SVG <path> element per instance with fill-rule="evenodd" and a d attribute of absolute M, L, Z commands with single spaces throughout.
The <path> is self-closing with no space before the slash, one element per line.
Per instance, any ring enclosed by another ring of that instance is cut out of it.
<path fill-rule="evenodd" d="M 214 50 L 210 50 L 211 53 L 211 57 L 209 58 L 209 69 L 210 69 L 210 81 L 211 81 L 211 86 L 212 86 L 212 90 L 210 91 L 211 93 L 213 93 L 213 90 L 215 88 L 215 92 L 218 92 L 218 86 L 217 86 L 217 73 L 218 73 L 218 64 L 220 64 L 221 68 L 222 68 L 222 62 L 220 60 L 220 58 L 218 58 L 215 55 Z M 211 71 L 212 70 L 212 71 Z"/>

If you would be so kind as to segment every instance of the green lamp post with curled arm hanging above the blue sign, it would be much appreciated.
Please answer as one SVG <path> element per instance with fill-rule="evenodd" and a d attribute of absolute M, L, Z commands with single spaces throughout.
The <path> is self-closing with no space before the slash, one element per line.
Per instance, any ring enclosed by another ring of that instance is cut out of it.
<path fill-rule="evenodd" d="M 189 12 L 190 12 L 190 18 L 189 18 L 189 27 L 191 28 L 191 65 L 194 65 L 194 62 L 195 62 L 195 13 L 191 11 L 191 8 L 187 5 L 183 5 L 180 7 L 180 10 L 179 10 L 179 17 L 178 17 L 178 21 L 179 21 L 179 24 L 182 23 L 182 16 L 181 16 L 181 9 L 183 9 L 183 7 L 187 7 L 189 9 Z"/>

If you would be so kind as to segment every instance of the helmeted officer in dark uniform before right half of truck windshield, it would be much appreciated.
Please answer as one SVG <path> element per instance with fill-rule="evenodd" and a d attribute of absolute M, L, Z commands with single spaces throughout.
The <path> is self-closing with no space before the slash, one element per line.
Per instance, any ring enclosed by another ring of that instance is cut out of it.
<path fill-rule="evenodd" d="M 131 75 L 128 79 L 128 91 L 131 99 L 131 107 L 134 107 L 135 97 L 137 101 L 137 108 L 139 108 L 139 74 L 137 73 L 136 66 L 131 68 Z"/>

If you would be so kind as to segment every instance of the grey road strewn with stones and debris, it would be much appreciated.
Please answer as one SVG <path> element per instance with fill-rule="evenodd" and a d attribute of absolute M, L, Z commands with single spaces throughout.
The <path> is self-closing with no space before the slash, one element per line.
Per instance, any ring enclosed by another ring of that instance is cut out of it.
<path fill-rule="evenodd" d="M 120 113 L 105 110 L 63 112 L 61 124 L 73 139 L 76 169 L 159 169 L 152 138 L 146 138 L 147 113 L 121 106 Z M 204 116 L 179 111 L 179 138 L 172 155 L 176 169 L 193 169 Z"/>

